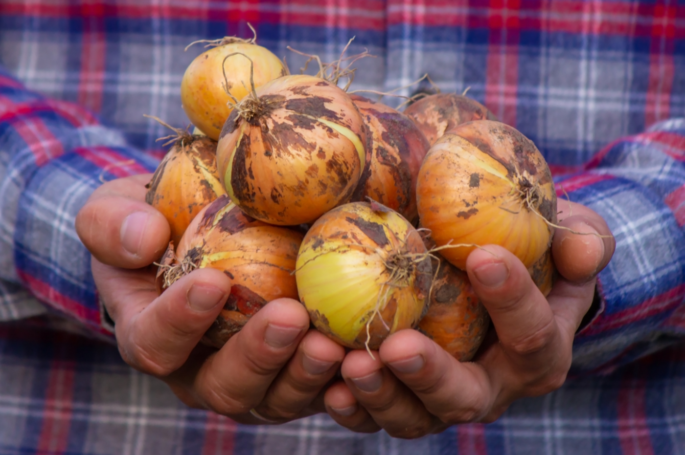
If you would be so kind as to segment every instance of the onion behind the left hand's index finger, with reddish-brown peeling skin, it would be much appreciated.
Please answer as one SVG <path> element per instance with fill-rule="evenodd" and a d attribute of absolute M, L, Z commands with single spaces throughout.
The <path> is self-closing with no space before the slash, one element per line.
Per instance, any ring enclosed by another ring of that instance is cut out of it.
<path fill-rule="evenodd" d="M 188 226 L 176 252 L 167 250 L 158 273 L 164 289 L 196 268 L 222 270 L 231 294 L 204 341 L 221 348 L 249 317 L 275 298 L 297 299 L 295 260 L 303 235 L 242 213 L 223 194 Z"/>

